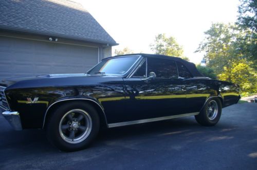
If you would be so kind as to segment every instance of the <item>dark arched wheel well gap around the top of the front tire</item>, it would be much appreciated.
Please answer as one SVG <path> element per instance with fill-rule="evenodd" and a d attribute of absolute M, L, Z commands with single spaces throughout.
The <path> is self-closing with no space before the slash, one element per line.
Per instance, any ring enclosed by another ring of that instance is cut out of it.
<path fill-rule="evenodd" d="M 76 100 L 60 101 L 60 102 L 57 102 L 57 103 L 51 105 L 50 108 L 47 110 L 47 112 L 44 115 L 45 117 L 44 117 L 44 122 L 43 122 L 43 129 L 45 129 L 45 125 L 47 124 L 47 122 L 50 118 L 50 115 L 54 111 L 56 111 L 56 109 L 58 107 L 60 107 L 61 105 L 65 104 L 65 103 L 68 103 L 70 101 L 83 101 L 85 103 L 89 103 L 89 104 L 93 105 L 93 107 L 96 109 L 99 119 L 100 119 L 100 127 L 107 128 L 107 120 L 106 120 L 105 114 L 104 114 L 103 110 L 101 109 L 101 107 L 96 102 L 91 101 L 91 100 L 76 99 Z"/>

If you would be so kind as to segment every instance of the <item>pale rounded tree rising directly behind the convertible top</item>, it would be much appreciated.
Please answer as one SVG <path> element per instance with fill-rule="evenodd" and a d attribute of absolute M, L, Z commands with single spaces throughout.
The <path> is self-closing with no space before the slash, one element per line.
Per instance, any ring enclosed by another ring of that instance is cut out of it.
<path fill-rule="evenodd" d="M 150 48 L 155 54 L 176 56 L 189 60 L 188 57 L 183 56 L 182 46 L 180 46 L 172 36 L 166 37 L 165 34 L 158 34 L 155 36 L 155 41 L 150 45 Z"/>

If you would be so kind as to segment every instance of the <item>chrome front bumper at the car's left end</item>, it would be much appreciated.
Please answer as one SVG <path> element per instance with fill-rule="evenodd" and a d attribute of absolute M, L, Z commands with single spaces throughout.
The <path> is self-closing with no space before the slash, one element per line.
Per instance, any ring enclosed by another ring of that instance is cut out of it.
<path fill-rule="evenodd" d="M 11 124 L 12 128 L 15 131 L 21 131 L 22 130 L 22 122 L 21 122 L 19 112 L 6 111 L 6 112 L 3 112 L 2 114 L 6 118 L 6 120 L 8 120 L 8 122 Z"/>

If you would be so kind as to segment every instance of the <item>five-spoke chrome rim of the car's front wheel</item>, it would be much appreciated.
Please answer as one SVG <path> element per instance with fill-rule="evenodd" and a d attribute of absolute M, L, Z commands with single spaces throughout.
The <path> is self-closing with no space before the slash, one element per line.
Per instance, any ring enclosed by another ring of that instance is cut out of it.
<path fill-rule="evenodd" d="M 90 115 L 81 109 L 74 109 L 64 114 L 59 123 L 62 139 L 68 143 L 80 143 L 92 130 Z"/>

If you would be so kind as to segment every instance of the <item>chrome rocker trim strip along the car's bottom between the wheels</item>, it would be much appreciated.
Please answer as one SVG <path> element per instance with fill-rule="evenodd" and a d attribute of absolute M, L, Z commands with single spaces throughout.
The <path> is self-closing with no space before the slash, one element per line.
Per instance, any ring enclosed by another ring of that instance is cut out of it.
<path fill-rule="evenodd" d="M 111 123 L 111 124 L 108 124 L 108 128 L 114 128 L 114 127 L 118 127 L 118 126 L 125 126 L 125 125 L 131 125 L 131 124 L 153 122 L 153 121 L 160 121 L 160 120 L 175 119 L 175 118 L 179 118 L 179 117 L 194 116 L 194 115 L 198 115 L 198 114 L 199 114 L 199 112 L 194 112 L 194 113 L 187 113 L 187 114 L 181 114 L 181 115 L 157 117 L 157 118 L 151 118 L 151 119 L 141 119 L 141 120 L 120 122 L 120 123 Z"/>

